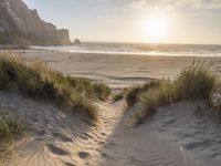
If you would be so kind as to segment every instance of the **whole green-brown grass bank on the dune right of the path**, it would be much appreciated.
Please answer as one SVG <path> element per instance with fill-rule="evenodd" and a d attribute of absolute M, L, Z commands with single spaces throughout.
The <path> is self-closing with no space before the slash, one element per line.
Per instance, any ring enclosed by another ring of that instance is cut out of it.
<path fill-rule="evenodd" d="M 134 103 L 140 105 L 141 114 L 137 115 L 140 123 L 162 105 L 183 100 L 209 101 L 217 92 L 218 77 L 219 72 L 212 72 L 211 63 L 193 61 L 175 81 L 165 80 L 131 89 L 126 97 L 127 103 L 129 106 Z"/>

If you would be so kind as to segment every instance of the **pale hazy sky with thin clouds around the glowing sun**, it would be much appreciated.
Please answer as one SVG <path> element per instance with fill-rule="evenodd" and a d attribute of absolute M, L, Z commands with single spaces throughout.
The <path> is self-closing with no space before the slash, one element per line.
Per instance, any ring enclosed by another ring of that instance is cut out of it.
<path fill-rule="evenodd" d="M 221 44 L 221 0 L 24 1 L 72 40 Z"/>

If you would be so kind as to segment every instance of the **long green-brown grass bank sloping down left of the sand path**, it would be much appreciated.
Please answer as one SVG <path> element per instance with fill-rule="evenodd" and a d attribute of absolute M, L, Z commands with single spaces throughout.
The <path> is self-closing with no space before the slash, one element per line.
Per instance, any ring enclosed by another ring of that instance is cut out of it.
<path fill-rule="evenodd" d="M 93 120 L 97 120 L 93 101 L 105 101 L 110 94 L 105 84 L 64 76 L 41 61 L 27 62 L 9 53 L 0 55 L 0 90 L 18 91 L 24 96 L 72 106 L 74 112 L 86 113 Z"/>

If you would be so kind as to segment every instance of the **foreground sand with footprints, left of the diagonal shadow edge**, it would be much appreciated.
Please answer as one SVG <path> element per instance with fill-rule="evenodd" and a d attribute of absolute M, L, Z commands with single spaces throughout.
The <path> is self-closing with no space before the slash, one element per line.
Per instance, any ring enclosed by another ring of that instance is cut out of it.
<path fill-rule="evenodd" d="M 113 112 L 112 106 L 98 104 L 101 121 L 92 126 L 82 116 L 54 107 L 52 103 L 18 94 L 1 93 L 0 103 L 1 114 L 18 115 L 29 129 L 15 143 L 12 158 L 6 163 L 9 166 L 97 165 L 101 149 L 119 120 L 120 112 L 115 113 L 122 110 Z"/>

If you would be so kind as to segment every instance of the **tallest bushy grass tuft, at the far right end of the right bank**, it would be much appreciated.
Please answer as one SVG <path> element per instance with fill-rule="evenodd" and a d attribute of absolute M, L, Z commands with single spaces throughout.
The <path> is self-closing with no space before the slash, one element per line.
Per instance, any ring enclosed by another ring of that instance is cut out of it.
<path fill-rule="evenodd" d="M 209 98 L 215 87 L 218 73 L 211 72 L 212 63 L 193 61 L 181 71 L 175 82 L 180 100 Z"/>

